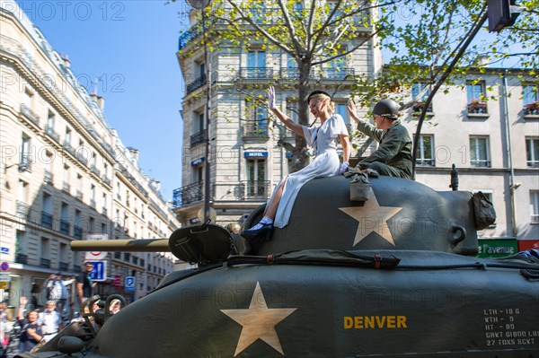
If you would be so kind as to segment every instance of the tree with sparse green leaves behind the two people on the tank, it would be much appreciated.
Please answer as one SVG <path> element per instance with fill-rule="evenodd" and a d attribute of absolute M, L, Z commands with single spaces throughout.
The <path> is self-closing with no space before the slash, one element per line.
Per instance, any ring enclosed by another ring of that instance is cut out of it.
<path fill-rule="evenodd" d="M 386 58 L 383 71 L 354 75 L 355 100 L 366 109 L 388 96 L 401 97 L 406 109 L 429 90 L 431 100 L 444 83 L 480 66 L 484 57 L 506 62 L 518 57 L 519 67 L 536 74 L 538 3 L 517 3 L 522 13 L 512 28 L 481 36 L 488 11 L 482 0 L 214 0 L 208 7 L 208 27 L 213 29 L 208 44 L 249 48 L 257 43 L 286 53 L 296 63 L 299 123 L 308 125 L 301 99 L 314 89 L 313 70 L 368 46 Z M 409 100 L 412 83 L 422 83 L 424 89 Z M 296 170 L 305 166 L 304 138 L 297 137 L 296 145 L 279 144 L 296 157 Z"/>

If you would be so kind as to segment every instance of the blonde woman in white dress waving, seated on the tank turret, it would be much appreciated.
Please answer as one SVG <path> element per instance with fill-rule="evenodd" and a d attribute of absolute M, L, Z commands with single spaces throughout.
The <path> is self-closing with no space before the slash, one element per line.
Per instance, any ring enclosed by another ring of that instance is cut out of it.
<path fill-rule="evenodd" d="M 314 91 L 307 97 L 309 109 L 315 118 L 320 119 L 319 127 L 298 125 L 280 111 L 275 104 L 275 90 L 268 89 L 268 107 L 277 118 L 297 135 L 305 137 L 307 144 L 314 148 L 314 161 L 304 169 L 287 175 L 273 191 L 266 205 L 264 216 L 260 223 L 242 232 L 247 239 L 264 236 L 274 226 L 283 228 L 294 206 L 299 189 L 309 180 L 315 178 L 340 175 L 349 167 L 350 143 L 349 133 L 344 120 L 339 114 L 333 113 L 334 103 L 331 96 L 323 91 Z M 342 160 L 339 161 L 337 144 L 342 145 Z"/>

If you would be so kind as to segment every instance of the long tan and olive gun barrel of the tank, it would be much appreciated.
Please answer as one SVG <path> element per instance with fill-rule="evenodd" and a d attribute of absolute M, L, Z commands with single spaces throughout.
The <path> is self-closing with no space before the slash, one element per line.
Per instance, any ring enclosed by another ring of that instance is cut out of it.
<path fill-rule="evenodd" d="M 170 251 L 168 239 L 138 240 L 74 240 L 73 251 L 127 251 L 127 252 L 164 252 Z"/>

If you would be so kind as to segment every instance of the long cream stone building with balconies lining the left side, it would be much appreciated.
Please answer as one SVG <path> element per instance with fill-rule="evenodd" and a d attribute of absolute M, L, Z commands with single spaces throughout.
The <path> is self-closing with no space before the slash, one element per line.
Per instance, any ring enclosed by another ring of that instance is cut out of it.
<path fill-rule="evenodd" d="M 71 251 L 72 240 L 168 238 L 179 223 L 159 183 L 138 169 L 137 150 L 107 126 L 102 97 L 77 83 L 68 58 L 14 2 L 3 2 L 0 15 L 0 227 L 2 261 L 12 274 L 4 296 L 16 306 L 50 274 L 80 272 L 84 252 Z M 128 300 L 173 268 L 170 253 L 113 252 L 105 261 L 98 292 Z M 126 276 L 136 277 L 134 293 L 123 291 Z"/>

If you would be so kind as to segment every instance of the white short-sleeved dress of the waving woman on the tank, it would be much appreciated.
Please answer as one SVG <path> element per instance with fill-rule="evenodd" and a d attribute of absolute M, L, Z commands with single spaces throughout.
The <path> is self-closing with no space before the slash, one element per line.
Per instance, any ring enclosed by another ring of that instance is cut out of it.
<path fill-rule="evenodd" d="M 285 178 L 287 181 L 273 221 L 273 226 L 278 228 L 287 226 L 297 193 L 307 181 L 338 174 L 340 167 L 339 154 L 337 153 L 338 135 L 349 135 L 344 120 L 339 114 L 333 114 L 320 127 L 302 127 L 306 142 L 314 148 L 315 157 L 314 161 L 304 169 L 289 174 Z M 278 183 L 278 186 L 283 180 Z M 268 205 L 273 200 L 278 186 L 273 190 Z"/>

